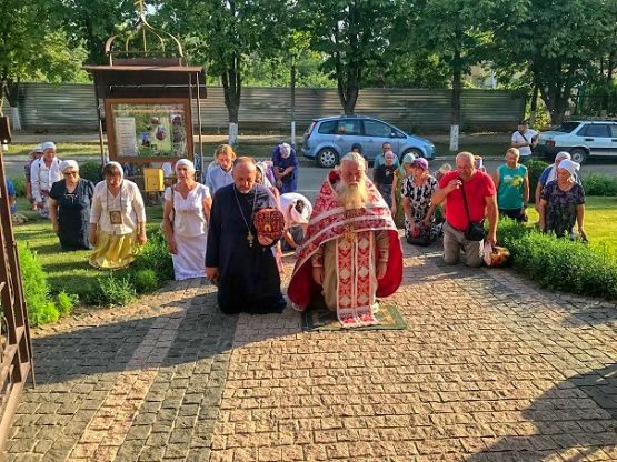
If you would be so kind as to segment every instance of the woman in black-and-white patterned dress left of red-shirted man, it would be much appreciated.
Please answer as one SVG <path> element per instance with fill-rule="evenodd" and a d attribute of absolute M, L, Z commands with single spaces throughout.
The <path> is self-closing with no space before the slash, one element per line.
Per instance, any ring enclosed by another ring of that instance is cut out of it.
<path fill-rule="evenodd" d="M 409 241 L 421 232 L 427 233 L 427 243 L 435 240 L 439 232 L 434 227 L 435 205 L 430 198 L 437 189 L 437 180 L 428 172 L 426 159 L 411 162 L 411 175 L 402 182 L 402 210 L 405 211 L 405 237 Z"/>

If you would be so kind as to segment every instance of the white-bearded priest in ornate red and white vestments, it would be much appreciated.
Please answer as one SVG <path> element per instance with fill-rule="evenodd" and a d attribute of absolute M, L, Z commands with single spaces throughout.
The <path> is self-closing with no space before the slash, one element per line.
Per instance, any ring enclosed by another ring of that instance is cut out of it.
<path fill-rule="evenodd" d="M 366 175 L 365 159 L 345 155 L 317 197 L 288 295 L 298 310 L 322 298 L 344 327 L 378 323 L 377 297 L 402 279 L 402 249 L 390 209 Z"/>

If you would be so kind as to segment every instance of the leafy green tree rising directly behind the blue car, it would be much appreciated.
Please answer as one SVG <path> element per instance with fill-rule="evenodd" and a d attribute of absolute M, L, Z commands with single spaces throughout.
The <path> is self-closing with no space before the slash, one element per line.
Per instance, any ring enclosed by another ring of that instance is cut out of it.
<path fill-rule="evenodd" d="M 327 59 L 324 71 L 337 81 L 346 114 L 352 114 L 364 77 L 380 66 L 388 48 L 394 0 L 298 1 L 300 23 L 310 37 L 314 51 Z"/>

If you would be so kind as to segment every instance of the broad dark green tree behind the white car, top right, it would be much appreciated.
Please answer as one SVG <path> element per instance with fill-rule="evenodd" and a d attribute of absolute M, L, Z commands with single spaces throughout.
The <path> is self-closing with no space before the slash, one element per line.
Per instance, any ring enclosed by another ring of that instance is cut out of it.
<path fill-rule="evenodd" d="M 597 79 L 614 9 L 604 0 L 499 0 L 492 22 L 500 79 L 527 79 L 551 123 L 560 123 L 574 89 Z"/>

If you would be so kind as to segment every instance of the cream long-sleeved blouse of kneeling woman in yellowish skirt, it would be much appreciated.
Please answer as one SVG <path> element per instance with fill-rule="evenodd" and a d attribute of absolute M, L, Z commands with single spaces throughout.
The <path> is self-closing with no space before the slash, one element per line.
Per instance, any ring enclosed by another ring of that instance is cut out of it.
<path fill-rule="evenodd" d="M 109 212 L 121 211 L 122 223 L 112 224 Z M 101 231 L 109 234 L 130 234 L 137 224 L 146 221 L 146 209 L 139 188 L 132 181 L 122 180 L 118 195 L 107 189 L 103 180 L 94 187 L 90 223 L 98 224 Z"/>

